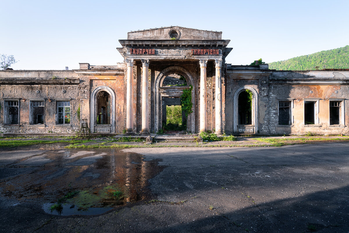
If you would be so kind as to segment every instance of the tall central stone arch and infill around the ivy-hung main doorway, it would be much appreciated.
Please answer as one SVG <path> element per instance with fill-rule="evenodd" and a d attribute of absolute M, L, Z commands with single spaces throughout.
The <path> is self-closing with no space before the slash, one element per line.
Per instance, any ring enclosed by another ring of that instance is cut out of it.
<path fill-rule="evenodd" d="M 186 121 L 186 130 L 195 132 L 195 85 L 193 77 L 187 70 L 179 66 L 171 66 L 164 69 L 155 79 L 155 114 L 154 132 L 162 129 L 163 123 L 167 122 L 166 106 L 179 106 L 180 97 L 184 89 L 192 89 L 192 113 L 182 120 Z"/>

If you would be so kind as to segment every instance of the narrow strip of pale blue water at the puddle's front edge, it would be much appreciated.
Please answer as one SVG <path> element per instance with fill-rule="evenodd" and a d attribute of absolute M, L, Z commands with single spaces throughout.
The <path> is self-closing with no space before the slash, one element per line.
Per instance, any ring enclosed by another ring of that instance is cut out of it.
<path fill-rule="evenodd" d="M 51 212 L 50 207 L 53 205 L 53 203 L 45 203 L 43 205 L 43 209 L 46 213 L 49 213 L 51 215 L 60 215 L 60 216 L 69 216 L 69 215 L 101 215 L 102 213 L 105 213 L 109 210 L 114 209 L 113 207 L 94 207 L 94 208 L 87 208 L 79 210 L 79 207 L 74 206 L 74 208 L 70 208 L 71 204 L 63 204 L 62 211 L 58 212 L 57 210 L 53 210 Z"/>

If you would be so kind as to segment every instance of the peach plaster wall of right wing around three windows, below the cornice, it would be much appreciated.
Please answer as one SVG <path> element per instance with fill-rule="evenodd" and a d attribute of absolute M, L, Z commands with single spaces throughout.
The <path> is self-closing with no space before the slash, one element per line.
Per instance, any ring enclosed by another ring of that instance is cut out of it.
<path fill-rule="evenodd" d="M 343 99 L 345 125 L 349 122 L 349 86 L 348 85 L 273 85 L 271 108 L 274 109 L 274 118 L 270 128 L 275 127 L 276 134 L 303 134 L 308 131 L 319 134 L 347 134 L 348 127 L 329 125 L 329 101 L 331 99 Z M 337 93 L 336 93 L 337 92 Z M 280 99 L 293 99 L 292 115 L 294 123 L 291 126 L 278 125 L 278 102 Z M 304 99 L 319 100 L 319 123 L 304 126 Z"/>

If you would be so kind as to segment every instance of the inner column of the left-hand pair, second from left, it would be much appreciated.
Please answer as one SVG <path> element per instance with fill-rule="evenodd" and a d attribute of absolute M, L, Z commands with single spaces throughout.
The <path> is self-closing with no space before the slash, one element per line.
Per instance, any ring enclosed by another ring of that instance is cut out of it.
<path fill-rule="evenodd" d="M 142 70 L 142 133 L 149 133 L 149 60 L 141 59 Z"/>

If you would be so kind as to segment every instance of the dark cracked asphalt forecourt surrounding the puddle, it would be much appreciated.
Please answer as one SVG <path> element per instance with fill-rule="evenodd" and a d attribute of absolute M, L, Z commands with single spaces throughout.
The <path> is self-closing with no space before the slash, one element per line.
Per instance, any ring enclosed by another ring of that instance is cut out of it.
<path fill-rule="evenodd" d="M 115 159 L 107 158 L 120 153 L 142 156 L 143 162 L 132 160 L 136 165 L 153 162 L 162 169 L 147 176 L 151 195 L 146 199 L 96 216 L 50 215 L 41 208 L 44 197 L 33 201 L 2 192 L 0 231 L 349 232 L 348 145 L 91 149 L 81 154 L 74 150 L 76 160 L 59 161 L 85 169 L 78 174 L 86 181 L 80 188 L 108 179 L 103 176 L 110 173 L 102 171 L 94 179 L 93 167 L 103 160 L 104 169 L 116 169 L 109 166 Z M 54 153 L 58 158 L 67 151 Z M 1 182 L 30 174 L 55 159 L 50 150 L 0 152 Z"/>

